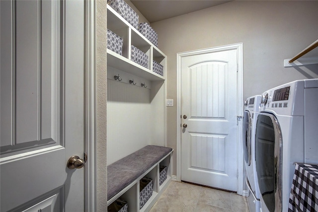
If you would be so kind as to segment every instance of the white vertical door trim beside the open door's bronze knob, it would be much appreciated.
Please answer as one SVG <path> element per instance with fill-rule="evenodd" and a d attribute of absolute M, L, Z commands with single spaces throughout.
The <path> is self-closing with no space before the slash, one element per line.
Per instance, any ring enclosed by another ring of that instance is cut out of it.
<path fill-rule="evenodd" d="M 95 89 L 95 11 L 94 0 L 84 1 L 84 151 L 87 164 L 84 166 L 84 211 L 96 211 L 96 89 Z M 105 152 L 106 154 L 106 152 Z"/>

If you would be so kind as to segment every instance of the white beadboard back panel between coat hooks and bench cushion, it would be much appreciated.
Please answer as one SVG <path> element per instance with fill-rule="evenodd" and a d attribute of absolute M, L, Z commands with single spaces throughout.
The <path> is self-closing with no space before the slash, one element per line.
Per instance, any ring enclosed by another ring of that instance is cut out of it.
<path fill-rule="evenodd" d="M 150 89 L 107 79 L 107 165 L 150 144 Z"/>

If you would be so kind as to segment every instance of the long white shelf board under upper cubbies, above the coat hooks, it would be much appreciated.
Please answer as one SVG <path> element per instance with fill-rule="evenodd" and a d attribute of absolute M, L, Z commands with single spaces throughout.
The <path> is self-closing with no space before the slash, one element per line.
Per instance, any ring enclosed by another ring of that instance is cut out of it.
<path fill-rule="evenodd" d="M 146 69 L 127 58 L 118 55 L 117 53 L 107 49 L 107 66 L 113 67 L 115 69 L 125 71 L 127 73 L 134 74 L 136 76 L 151 80 L 158 81 L 164 80 L 165 78 L 149 69 Z"/>

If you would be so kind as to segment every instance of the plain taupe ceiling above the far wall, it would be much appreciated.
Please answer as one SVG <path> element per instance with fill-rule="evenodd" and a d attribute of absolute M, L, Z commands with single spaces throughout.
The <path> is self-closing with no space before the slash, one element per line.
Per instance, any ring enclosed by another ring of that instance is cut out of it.
<path fill-rule="evenodd" d="M 150 23 L 229 1 L 230 0 L 131 0 Z"/>

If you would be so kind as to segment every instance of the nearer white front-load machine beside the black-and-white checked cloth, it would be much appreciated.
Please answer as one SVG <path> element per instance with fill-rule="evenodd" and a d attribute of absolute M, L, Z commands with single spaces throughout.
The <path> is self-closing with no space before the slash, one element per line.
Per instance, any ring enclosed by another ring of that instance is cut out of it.
<path fill-rule="evenodd" d="M 318 164 L 318 79 L 262 94 L 255 132 L 262 212 L 287 212 L 295 162 Z"/>

